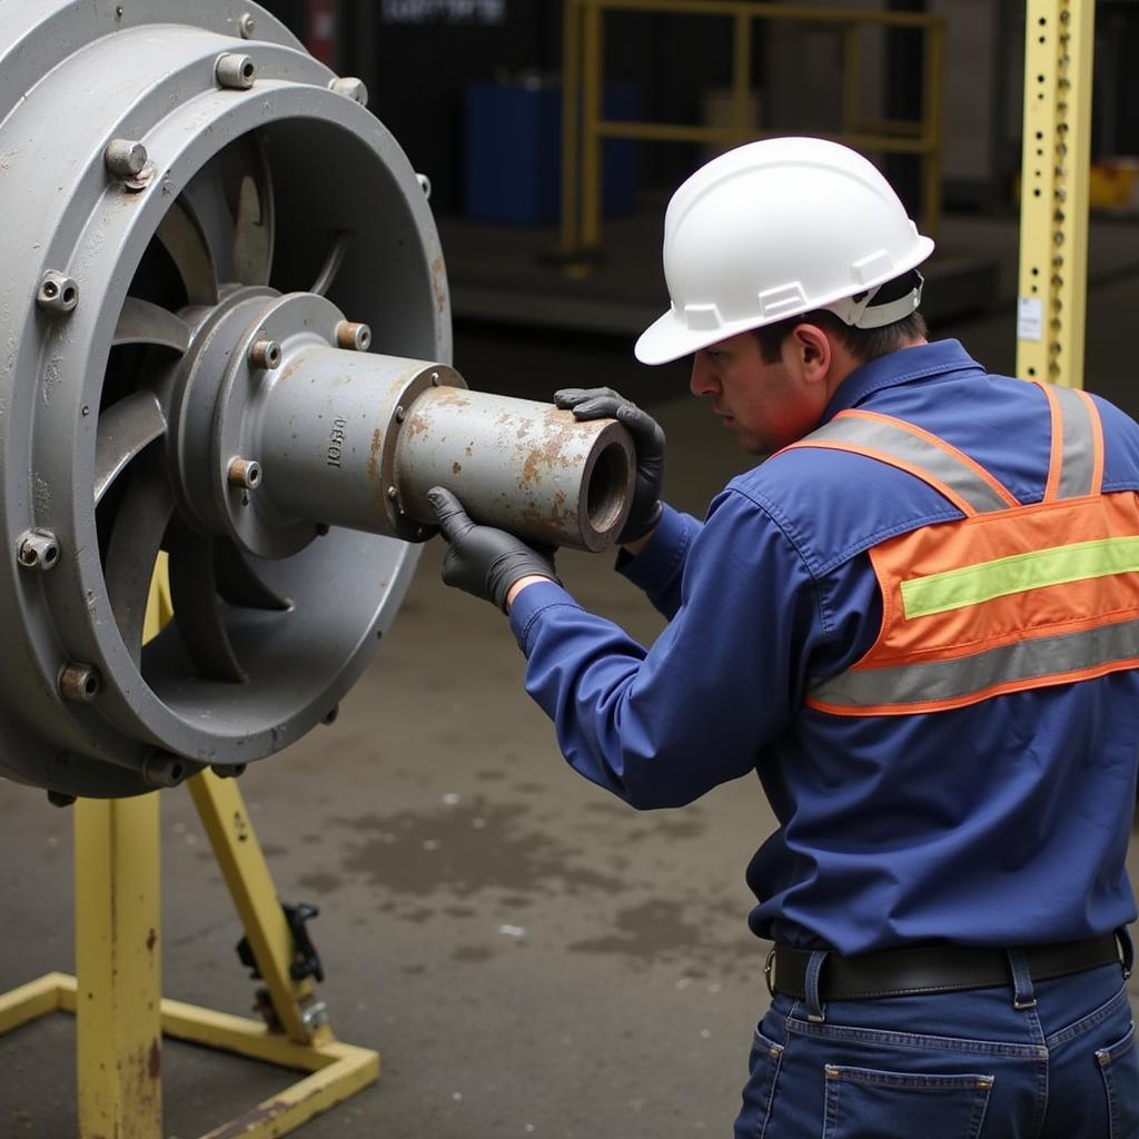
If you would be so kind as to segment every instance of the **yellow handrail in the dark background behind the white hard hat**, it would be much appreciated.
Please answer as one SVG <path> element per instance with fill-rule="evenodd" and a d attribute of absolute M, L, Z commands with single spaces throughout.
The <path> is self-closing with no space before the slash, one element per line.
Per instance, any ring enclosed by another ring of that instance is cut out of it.
<path fill-rule="evenodd" d="M 566 261 L 596 253 L 601 244 L 601 144 L 646 141 L 745 142 L 761 138 L 748 123 L 752 23 L 795 21 L 843 28 L 843 130 L 827 136 L 861 150 L 913 154 L 921 159 L 921 221 L 936 236 L 941 220 L 941 112 L 944 22 L 923 13 L 860 11 L 753 0 L 564 0 L 562 107 L 562 253 Z M 607 120 L 601 112 L 606 11 L 724 16 L 731 32 L 731 125 L 703 126 Z M 917 28 L 924 35 L 921 117 L 866 123 L 858 113 L 861 71 L 859 33 L 867 26 Z M 877 128 L 877 129 L 875 129 Z"/>

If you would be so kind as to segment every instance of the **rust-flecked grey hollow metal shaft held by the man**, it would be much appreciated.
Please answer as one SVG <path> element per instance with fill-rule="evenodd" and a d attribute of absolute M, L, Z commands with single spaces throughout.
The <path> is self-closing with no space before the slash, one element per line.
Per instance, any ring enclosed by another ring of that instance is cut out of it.
<path fill-rule="evenodd" d="M 444 485 L 480 522 L 585 550 L 613 543 L 634 477 L 616 420 L 472 392 L 445 364 L 329 347 L 280 369 L 255 457 L 257 493 L 282 518 L 421 540 L 427 491 Z"/>

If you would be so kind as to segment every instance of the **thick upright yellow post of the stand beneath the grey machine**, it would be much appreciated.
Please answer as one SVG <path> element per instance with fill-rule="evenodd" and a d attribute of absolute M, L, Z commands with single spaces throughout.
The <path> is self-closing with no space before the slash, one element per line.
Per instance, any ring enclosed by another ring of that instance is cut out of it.
<path fill-rule="evenodd" d="M 158 796 L 75 804 L 80 1139 L 161 1139 Z"/>

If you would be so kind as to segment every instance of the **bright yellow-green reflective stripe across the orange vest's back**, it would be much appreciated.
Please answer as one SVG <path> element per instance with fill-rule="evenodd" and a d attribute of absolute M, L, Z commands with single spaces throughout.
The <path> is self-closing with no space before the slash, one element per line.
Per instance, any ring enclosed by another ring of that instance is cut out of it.
<path fill-rule="evenodd" d="M 902 582 L 906 620 L 1046 585 L 1139 572 L 1139 538 L 1107 538 L 982 562 Z"/>

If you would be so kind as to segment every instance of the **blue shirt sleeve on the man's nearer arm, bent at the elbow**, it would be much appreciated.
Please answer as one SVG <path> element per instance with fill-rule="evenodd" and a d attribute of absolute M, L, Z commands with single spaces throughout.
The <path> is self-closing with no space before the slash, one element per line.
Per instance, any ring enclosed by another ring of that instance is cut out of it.
<path fill-rule="evenodd" d="M 642 809 L 683 805 L 756 767 L 798 707 L 802 646 L 819 625 L 794 543 L 732 489 L 690 533 L 679 593 L 649 649 L 552 583 L 525 589 L 510 613 L 526 690 L 566 760 Z"/>

